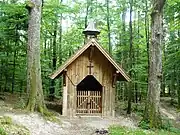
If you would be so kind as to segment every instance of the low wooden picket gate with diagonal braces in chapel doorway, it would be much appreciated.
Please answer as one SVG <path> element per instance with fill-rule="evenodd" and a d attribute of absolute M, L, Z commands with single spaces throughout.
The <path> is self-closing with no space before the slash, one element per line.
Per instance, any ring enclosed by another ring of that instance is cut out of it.
<path fill-rule="evenodd" d="M 77 91 L 76 114 L 98 115 L 102 113 L 101 91 Z"/>

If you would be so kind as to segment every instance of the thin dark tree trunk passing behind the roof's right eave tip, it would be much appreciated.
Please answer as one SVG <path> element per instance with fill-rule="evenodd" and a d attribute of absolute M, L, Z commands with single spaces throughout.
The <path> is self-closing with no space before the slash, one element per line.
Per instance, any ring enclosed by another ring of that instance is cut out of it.
<path fill-rule="evenodd" d="M 130 31 L 130 39 L 129 39 L 129 42 L 130 42 L 130 48 L 129 48 L 129 76 L 132 77 L 132 60 L 133 60 L 133 43 L 132 43 L 132 40 L 133 40 L 133 36 L 132 36 L 132 5 L 133 5 L 133 0 L 130 0 L 130 21 L 129 21 L 129 31 Z M 130 114 L 131 113 L 131 100 L 132 100 L 132 85 L 133 83 L 130 82 L 129 83 L 129 90 L 128 90 L 128 108 L 127 108 L 127 114 Z"/>

